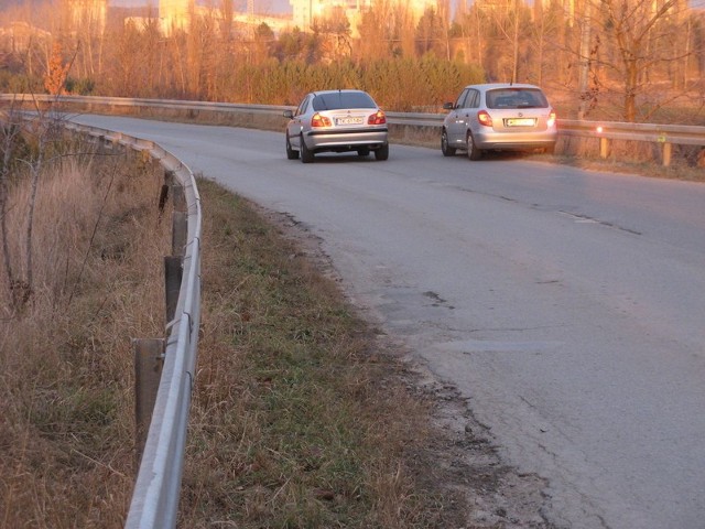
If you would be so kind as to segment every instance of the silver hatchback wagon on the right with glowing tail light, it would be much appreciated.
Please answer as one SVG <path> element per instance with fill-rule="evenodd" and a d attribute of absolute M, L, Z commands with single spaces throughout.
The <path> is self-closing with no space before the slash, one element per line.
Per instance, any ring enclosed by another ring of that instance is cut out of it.
<path fill-rule="evenodd" d="M 555 111 L 534 85 L 496 83 L 466 86 L 449 110 L 441 131 L 445 156 L 456 150 L 479 160 L 484 151 L 553 153 L 557 138 Z"/>

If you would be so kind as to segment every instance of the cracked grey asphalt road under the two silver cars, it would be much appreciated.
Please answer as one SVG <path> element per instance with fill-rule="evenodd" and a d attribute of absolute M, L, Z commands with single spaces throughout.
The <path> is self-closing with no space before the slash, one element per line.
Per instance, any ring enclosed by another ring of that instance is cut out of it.
<path fill-rule="evenodd" d="M 77 121 L 321 237 L 352 301 L 546 479 L 557 527 L 705 528 L 705 185 L 401 145 L 302 164 L 272 132 Z"/>

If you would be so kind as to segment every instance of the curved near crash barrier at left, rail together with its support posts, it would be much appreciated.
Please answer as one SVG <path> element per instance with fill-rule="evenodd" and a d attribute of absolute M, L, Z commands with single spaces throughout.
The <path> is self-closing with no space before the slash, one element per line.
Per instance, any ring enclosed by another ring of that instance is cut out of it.
<path fill-rule="evenodd" d="M 196 181 L 186 165 L 152 141 L 68 121 L 64 126 L 96 141 L 149 153 L 164 168 L 160 207 L 170 194 L 174 205 L 173 255 L 164 260 L 169 323 L 165 339 L 133 339 L 141 461 L 126 528 L 173 528 L 200 320 L 202 208 Z"/>

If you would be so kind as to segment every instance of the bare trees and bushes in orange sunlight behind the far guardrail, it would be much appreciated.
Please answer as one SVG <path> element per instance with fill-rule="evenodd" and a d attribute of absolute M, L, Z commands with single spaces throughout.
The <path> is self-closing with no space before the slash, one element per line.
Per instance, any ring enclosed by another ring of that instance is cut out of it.
<path fill-rule="evenodd" d="M 4 90 L 47 91 L 58 53 L 63 89 L 84 95 L 295 105 L 310 89 L 359 87 L 389 110 L 436 111 L 466 84 L 523 82 L 564 117 L 646 121 L 681 106 L 703 119 L 705 13 L 685 0 L 460 0 L 453 13 L 438 0 L 420 18 L 378 0 L 354 21 L 330 9 L 279 33 L 226 23 L 225 1 L 169 35 L 151 10 L 102 26 L 68 17 L 67 2 L 6 11 L 6 24 L 44 21 L 51 42 L 4 43 Z"/>

